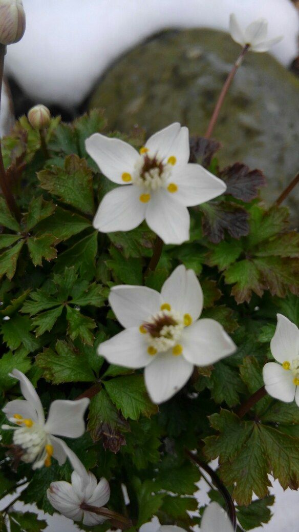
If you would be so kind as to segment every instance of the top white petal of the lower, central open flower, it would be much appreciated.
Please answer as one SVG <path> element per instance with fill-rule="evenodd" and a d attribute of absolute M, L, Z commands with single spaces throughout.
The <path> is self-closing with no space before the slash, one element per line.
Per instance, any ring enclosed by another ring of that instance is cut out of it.
<path fill-rule="evenodd" d="M 165 281 L 161 296 L 163 303 L 169 303 L 177 312 L 190 314 L 193 321 L 201 314 L 203 294 L 199 280 L 194 271 L 187 270 L 183 264 Z"/>

